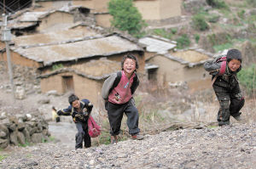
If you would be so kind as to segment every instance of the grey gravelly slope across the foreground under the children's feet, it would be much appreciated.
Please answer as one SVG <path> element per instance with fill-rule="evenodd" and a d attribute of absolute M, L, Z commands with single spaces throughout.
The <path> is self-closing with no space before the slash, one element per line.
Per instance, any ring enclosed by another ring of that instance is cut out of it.
<path fill-rule="evenodd" d="M 1 168 L 256 168 L 256 123 L 184 129 L 89 149 L 37 144 L 0 161 Z"/>

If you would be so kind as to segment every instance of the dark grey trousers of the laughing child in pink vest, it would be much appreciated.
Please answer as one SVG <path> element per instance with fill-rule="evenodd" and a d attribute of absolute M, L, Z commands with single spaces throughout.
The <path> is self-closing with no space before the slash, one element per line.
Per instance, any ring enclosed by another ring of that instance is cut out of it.
<path fill-rule="evenodd" d="M 126 123 L 129 128 L 129 134 L 136 135 L 140 132 L 140 129 L 138 128 L 139 115 L 132 99 L 126 104 L 112 104 L 108 102 L 107 107 L 110 134 L 112 136 L 119 134 L 124 113 L 127 116 Z"/>

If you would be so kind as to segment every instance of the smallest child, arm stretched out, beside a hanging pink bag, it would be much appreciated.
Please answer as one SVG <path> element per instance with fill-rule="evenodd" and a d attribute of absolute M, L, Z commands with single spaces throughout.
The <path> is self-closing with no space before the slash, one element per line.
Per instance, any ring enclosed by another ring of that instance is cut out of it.
<path fill-rule="evenodd" d="M 74 94 L 68 97 L 69 106 L 67 109 L 57 111 L 58 115 L 72 115 L 78 133 L 76 134 L 75 149 L 89 148 L 91 146 L 90 135 L 88 133 L 88 118 L 93 105 L 88 99 L 79 100 Z"/>

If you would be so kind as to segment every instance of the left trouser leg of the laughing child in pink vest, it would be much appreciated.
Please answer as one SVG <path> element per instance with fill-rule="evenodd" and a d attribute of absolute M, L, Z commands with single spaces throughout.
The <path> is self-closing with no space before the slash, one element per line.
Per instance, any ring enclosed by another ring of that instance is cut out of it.
<path fill-rule="evenodd" d="M 124 105 L 117 105 L 108 102 L 108 121 L 110 124 L 110 134 L 119 135 L 121 122 L 124 114 Z"/>

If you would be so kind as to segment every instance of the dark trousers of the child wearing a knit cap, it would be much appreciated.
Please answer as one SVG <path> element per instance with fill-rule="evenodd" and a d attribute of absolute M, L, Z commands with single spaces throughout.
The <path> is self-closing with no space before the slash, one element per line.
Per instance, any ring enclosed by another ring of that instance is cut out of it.
<path fill-rule="evenodd" d="M 220 105 L 217 117 L 219 126 L 230 124 L 230 115 L 234 117 L 241 115 L 239 111 L 244 105 L 245 100 L 241 93 L 236 93 L 236 91 L 240 92 L 239 86 L 237 87 L 235 87 L 236 90 L 227 90 L 224 87 L 213 85 Z"/>

